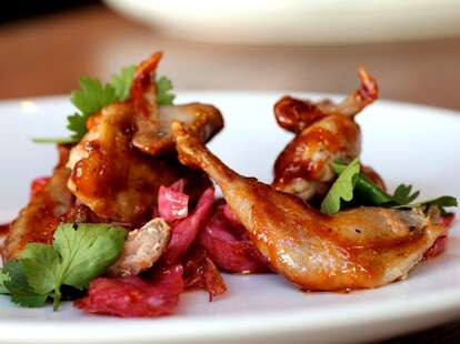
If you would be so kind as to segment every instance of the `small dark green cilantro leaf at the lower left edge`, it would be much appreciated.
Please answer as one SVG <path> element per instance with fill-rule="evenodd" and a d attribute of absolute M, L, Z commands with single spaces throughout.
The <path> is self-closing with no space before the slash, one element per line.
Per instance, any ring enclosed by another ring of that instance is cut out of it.
<path fill-rule="evenodd" d="M 42 307 L 47 302 L 48 294 L 38 294 L 27 282 L 21 262 L 9 261 L 3 266 L 3 273 L 9 275 L 4 282 L 6 289 L 11 294 L 11 301 L 23 307 Z"/>

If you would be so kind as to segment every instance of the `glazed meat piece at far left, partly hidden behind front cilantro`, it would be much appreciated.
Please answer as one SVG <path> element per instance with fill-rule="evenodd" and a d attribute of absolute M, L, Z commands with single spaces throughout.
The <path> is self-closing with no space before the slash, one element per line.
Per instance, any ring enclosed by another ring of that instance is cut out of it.
<path fill-rule="evenodd" d="M 51 243 L 52 234 L 64 215 L 73 205 L 74 198 L 67 189 L 70 171 L 66 168 L 69 148 L 59 145 L 59 163 L 49 181 L 21 210 L 11 223 L 1 253 L 4 260 L 16 257 L 29 242 Z"/>

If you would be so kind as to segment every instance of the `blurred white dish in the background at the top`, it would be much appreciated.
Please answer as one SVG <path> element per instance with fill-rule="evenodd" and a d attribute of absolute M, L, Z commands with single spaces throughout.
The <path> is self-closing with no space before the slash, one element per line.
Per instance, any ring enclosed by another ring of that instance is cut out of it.
<path fill-rule="evenodd" d="M 104 0 L 156 31 L 217 43 L 401 41 L 460 34 L 458 0 Z"/>

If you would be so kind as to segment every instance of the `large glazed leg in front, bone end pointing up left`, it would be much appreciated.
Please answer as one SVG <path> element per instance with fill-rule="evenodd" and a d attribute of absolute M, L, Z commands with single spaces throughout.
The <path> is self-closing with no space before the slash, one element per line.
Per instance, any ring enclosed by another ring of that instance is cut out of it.
<path fill-rule="evenodd" d="M 221 188 L 232 213 L 271 267 L 302 290 L 377 287 L 398 279 L 446 234 L 421 212 L 357 208 L 326 215 L 299 198 L 226 166 L 180 123 L 179 159 Z"/>

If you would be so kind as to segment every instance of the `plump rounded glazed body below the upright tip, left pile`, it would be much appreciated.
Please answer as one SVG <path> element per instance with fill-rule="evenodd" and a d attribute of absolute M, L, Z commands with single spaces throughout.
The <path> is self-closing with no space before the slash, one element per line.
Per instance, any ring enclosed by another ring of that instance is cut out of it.
<path fill-rule="evenodd" d="M 104 108 L 91 125 L 70 153 L 69 190 L 101 217 L 129 223 L 149 220 L 159 188 L 188 170 L 174 156 L 152 158 L 131 144 L 129 104 Z"/>

